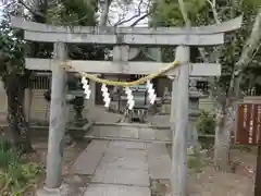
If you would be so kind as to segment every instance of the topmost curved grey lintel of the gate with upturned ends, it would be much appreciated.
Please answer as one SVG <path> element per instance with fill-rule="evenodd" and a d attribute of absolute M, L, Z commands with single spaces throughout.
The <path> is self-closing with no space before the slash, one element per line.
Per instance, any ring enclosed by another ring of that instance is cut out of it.
<path fill-rule="evenodd" d="M 226 33 L 236 30 L 241 26 L 243 16 L 238 16 L 234 20 L 223 22 L 219 25 L 197 26 L 197 27 L 97 27 L 97 26 L 53 26 L 42 23 L 28 22 L 22 17 L 11 17 L 11 25 L 16 28 L 22 28 L 32 32 L 45 32 L 45 33 L 76 33 L 76 34 L 142 34 L 142 35 L 208 35 Z"/>

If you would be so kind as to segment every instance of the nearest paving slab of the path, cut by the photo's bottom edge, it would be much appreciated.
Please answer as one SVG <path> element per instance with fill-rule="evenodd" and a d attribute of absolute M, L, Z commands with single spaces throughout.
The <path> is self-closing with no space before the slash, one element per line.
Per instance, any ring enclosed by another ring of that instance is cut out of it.
<path fill-rule="evenodd" d="M 149 187 L 91 184 L 84 196 L 150 196 Z"/>

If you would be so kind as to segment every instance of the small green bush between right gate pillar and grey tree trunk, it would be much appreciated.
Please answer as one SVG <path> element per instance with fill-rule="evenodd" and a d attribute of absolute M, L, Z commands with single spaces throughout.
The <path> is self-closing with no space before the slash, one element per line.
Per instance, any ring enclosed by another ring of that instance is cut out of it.
<path fill-rule="evenodd" d="M 202 111 L 198 118 L 197 130 L 201 134 L 214 135 L 215 132 L 214 117 L 209 112 Z"/>

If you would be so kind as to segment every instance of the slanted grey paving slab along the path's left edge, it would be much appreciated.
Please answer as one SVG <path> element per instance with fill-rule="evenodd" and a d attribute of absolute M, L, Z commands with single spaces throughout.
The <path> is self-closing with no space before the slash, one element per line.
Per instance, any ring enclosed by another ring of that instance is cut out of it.
<path fill-rule="evenodd" d="M 92 140 L 74 162 L 74 173 L 84 175 L 94 174 L 109 143 L 109 140 Z"/>

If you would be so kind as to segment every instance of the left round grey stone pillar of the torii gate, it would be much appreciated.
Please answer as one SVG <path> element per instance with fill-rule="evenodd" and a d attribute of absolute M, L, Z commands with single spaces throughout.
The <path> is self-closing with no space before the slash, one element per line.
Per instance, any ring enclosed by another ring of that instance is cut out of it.
<path fill-rule="evenodd" d="M 66 59 L 66 47 L 64 42 L 54 44 L 54 60 L 64 61 Z M 46 187 L 57 188 L 62 183 L 62 160 L 64 148 L 64 132 L 66 118 L 66 74 L 57 63 L 52 68 L 51 79 L 51 106 L 49 120 L 49 138 L 47 155 L 47 176 Z"/>

